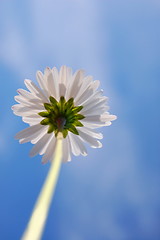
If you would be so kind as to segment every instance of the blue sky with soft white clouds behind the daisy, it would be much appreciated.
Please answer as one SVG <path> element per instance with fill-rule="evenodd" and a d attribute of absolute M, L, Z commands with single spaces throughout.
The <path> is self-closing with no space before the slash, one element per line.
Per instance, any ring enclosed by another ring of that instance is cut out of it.
<path fill-rule="evenodd" d="M 0 239 L 20 239 L 49 164 L 14 135 L 16 89 L 65 64 L 101 81 L 118 119 L 63 164 L 43 240 L 160 239 L 159 0 L 0 1 Z"/>

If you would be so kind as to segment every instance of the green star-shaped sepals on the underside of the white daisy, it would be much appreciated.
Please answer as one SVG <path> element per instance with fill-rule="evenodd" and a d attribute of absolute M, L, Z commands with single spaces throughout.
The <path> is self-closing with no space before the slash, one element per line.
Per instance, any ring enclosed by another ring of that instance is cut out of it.
<path fill-rule="evenodd" d="M 48 133 L 54 131 L 56 137 L 61 132 L 63 137 L 66 138 L 68 131 L 79 135 L 76 127 L 83 127 L 83 124 L 79 121 L 85 118 L 82 114 L 79 114 L 83 106 L 75 106 L 73 98 L 66 101 L 62 96 L 59 102 L 52 96 L 49 99 L 50 103 L 44 103 L 46 111 L 38 113 L 41 117 L 44 117 L 40 124 L 49 125 Z"/>

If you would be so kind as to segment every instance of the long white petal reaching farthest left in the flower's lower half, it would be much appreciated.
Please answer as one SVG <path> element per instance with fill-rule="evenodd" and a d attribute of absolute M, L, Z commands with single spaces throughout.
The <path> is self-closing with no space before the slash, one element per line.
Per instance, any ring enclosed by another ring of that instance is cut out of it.
<path fill-rule="evenodd" d="M 27 138 L 33 135 L 36 132 L 40 132 L 44 126 L 41 124 L 36 124 L 31 127 L 28 127 L 20 132 L 18 132 L 15 136 L 16 139 Z"/>

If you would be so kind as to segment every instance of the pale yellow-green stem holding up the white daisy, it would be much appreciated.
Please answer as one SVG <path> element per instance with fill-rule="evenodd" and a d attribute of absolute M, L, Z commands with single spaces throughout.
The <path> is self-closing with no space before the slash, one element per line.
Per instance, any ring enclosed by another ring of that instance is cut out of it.
<path fill-rule="evenodd" d="M 62 159 L 62 135 L 58 134 L 54 159 L 21 240 L 40 240 L 55 192 Z"/>

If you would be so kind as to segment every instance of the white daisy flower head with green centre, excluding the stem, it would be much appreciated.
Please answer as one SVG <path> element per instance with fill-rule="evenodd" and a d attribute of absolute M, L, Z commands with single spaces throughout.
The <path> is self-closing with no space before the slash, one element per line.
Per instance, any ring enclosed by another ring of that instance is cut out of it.
<path fill-rule="evenodd" d="M 95 129 L 111 125 L 116 119 L 108 112 L 107 97 L 97 90 L 99 81 L 85 76 L 83 70 L 62 66 L 47 67 L 36 74 L 37 86 L 25 79 L 27 91 L 18 89 L 12 106 L 14 114 L 21 116 L 29 127 L 16 135 L 20 143 L 34 144 L 30 156 L 43 155 L 42 162 L 53 159 L 57 136 L 62 135 L 63 161 L 75 156 L 87 155 L 85 143 L 92 148 L 102 147 L 103 135 Z"/>

